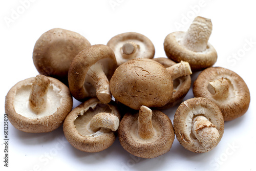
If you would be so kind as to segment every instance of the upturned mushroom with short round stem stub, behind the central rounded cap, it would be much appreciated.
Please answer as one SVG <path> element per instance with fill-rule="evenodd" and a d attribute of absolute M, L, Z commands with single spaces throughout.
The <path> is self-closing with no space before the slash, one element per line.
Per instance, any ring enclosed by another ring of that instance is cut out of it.
<path fill-rule="evenodd" d="M 126 32 L 112 37 L 108 44 L 115 53 L 117 65 L 135 58 L 153 58 L 155 47 L 146 36 L 136 32 Z"/>

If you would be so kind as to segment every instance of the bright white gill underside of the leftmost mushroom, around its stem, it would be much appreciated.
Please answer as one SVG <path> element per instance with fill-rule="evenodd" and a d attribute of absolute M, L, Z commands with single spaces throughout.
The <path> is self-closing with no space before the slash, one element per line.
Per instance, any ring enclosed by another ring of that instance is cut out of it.
<path fill-rule="evenodd" d="M 46 110 L 42 111 L 39 114 L 35 114 L 29 106 L 29 96 L 31 88 L 32 84 L 24 86 L 21 89 L 17 90 L 13 102 L 16 113 L 30 119 L 40 119 L 54 114 L 61 103 L 61 96 L 59 95 L 60 90 L 53 84 L 50 84 L 47 93 Z"/>

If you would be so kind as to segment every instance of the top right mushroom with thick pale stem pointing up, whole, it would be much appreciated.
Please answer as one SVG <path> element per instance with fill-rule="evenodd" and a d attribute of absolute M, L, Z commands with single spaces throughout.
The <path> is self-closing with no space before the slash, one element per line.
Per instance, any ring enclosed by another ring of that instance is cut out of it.
<path fill-rule="evenodd" d="M 211 67 L 217 61 L 217 52 L 209 44 L 212 31 L 211 20 L 196 17 L 186 32 L 168 34 L 164 39 L 164 51 L 175 62 L 187 61 L 192 71 Z"/>

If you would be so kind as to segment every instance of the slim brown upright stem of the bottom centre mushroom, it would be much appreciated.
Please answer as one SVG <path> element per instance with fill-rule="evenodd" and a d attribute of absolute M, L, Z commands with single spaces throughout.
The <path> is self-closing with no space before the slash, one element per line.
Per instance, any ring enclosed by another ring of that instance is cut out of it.
<path fill-rule="evenodd" d="M 142 105 L 138 117 L 138 134 L 142 139 L 151 139 L 155 131 L 152 124 L 152 110 Z"/>

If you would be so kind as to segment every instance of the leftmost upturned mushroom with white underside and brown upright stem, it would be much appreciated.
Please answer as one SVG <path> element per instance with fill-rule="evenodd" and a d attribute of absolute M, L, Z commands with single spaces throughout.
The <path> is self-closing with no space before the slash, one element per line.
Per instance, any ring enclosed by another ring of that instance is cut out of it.
<path fill-rule="evenodd" d="M 5 111 L 11 124 L 28 133 L 57 129 L 72 106 L 69 88 L 44 75 L 19 81 L 9 90 L 5 101 Z"/>

